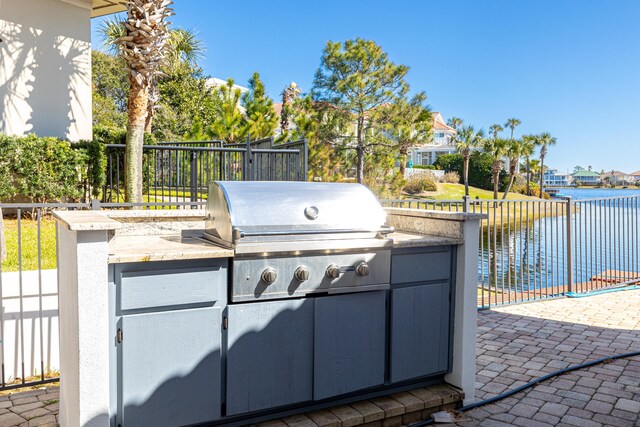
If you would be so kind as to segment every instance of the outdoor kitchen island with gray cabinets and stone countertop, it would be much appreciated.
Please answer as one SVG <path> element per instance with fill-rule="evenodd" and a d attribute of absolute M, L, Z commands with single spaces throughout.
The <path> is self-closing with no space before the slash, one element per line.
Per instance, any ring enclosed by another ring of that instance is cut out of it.
<path fill-rule="evenodd" d="M 445 382 L 473 399 L 479 216 L 389 209 L 394 232 L 278 252 L 203 212 L 56 213 L 61 425 L 242 425 Z"/>

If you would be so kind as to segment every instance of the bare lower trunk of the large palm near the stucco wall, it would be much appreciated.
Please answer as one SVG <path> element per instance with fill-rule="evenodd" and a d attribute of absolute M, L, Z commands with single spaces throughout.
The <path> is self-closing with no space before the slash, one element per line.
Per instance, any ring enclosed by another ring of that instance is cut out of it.
<path fill-rule="evenodd" d="M 125 201 L 142 202 L 142 145 L 147 116 L 149 88 L 139 85 L 134 78 L 129 79 L 127 147 L 125 150 Z"/>

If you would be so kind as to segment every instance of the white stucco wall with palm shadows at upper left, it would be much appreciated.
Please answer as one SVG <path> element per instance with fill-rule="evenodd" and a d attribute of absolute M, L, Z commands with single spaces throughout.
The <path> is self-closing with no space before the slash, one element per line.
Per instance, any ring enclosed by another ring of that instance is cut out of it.
<path fill-rule="evenodd" d="M 88 0 L 0 2 L 0 133 L 91 138 Z"/>

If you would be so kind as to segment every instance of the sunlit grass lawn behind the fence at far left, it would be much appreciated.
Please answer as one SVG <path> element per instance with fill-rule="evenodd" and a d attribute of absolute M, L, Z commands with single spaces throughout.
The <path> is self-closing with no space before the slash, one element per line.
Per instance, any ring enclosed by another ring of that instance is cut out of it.
<path fill-rule="evenodd" d="M 22 269 L 38 269 L 38 222 L 23 219 L 22 226 Z M 18 220 L 5 219 L 7 259 L 2 262 L 2 271 L 18 271 Z M 56 223 L 51 217 L 40 221 L 42 269 L 56 268 Z"/>

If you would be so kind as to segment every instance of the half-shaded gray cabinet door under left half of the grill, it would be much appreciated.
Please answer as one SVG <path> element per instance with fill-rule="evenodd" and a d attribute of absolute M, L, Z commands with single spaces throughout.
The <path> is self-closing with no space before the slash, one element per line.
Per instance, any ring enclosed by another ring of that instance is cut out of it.
<path fill-rule="evenodd" d="M 313 300 L 228 307 L 227 415 L 312 399 Z"/>

